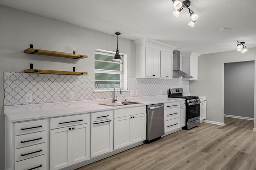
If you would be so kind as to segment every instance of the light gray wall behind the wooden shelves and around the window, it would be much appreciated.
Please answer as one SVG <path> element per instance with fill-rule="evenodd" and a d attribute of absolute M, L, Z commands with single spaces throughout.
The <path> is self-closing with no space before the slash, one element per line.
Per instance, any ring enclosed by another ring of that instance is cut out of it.
<path fill-rule="evenodd" d="M 104 26 L 104 25 L 103 25 Z M 94 49 L 116 50 L 117 30 L 113 35 L 44 18 L 31 13 L 0 6 L 0 170 L 4 169 L 4 74 L 23 72 L 33 63 L 36 69 L 88 72 L 94 76 Z M 60 57 L 28 55 L 23 51 L 34 48 L 88 55 L 87 59 L 73 60 Z M 128 77 L 135 77 L 133 61 L 136 46 L 133 41 L 118 37 L 120 53 L 128 55 Z"/>

